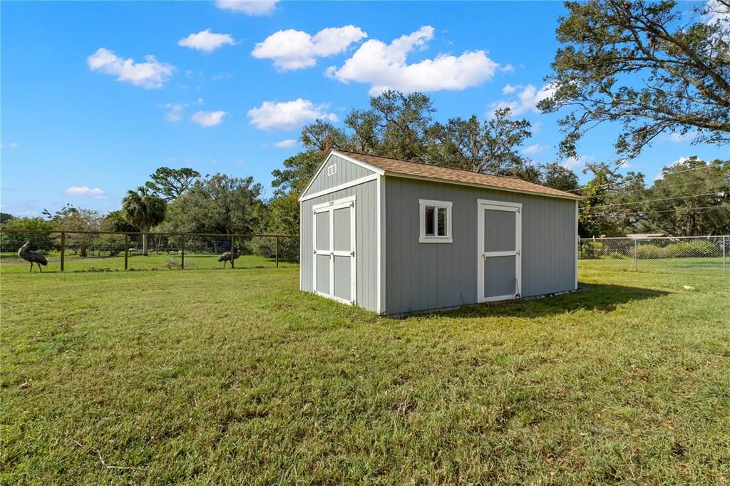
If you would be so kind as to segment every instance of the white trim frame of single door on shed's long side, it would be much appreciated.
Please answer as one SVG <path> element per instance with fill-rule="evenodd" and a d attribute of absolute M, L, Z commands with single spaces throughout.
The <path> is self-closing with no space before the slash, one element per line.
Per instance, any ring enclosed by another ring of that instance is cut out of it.
<path fill-rule="evenodd" d="M 484 212 L 509 211 L 515 213 L 515 250 L 500 252 L 484 251 Z M 487 258 L 513 256 L 515 257 L 515 293 L 504 296 L 485 297 L 484 266 Z M 522 204 L 507 201 L 489 201 L 477 199 L 477 302 L 504 301 L 518 298 L 522 294 Z"/>

